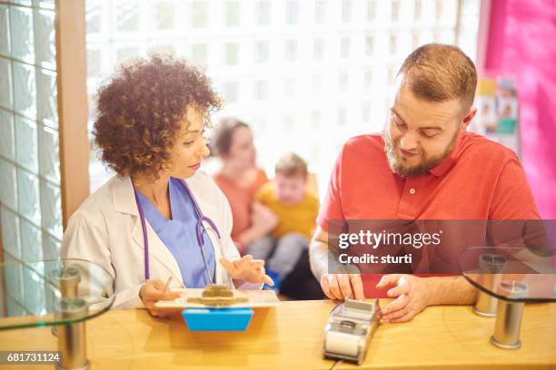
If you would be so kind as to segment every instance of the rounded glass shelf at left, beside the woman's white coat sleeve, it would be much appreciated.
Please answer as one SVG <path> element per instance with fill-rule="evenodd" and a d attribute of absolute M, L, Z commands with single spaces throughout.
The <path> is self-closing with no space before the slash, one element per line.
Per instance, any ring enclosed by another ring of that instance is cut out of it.
<path fill-rule="evenodd" d="M 114 303 L 114 278 L 83 259 L 0 264 L 0 330 L 73 324 Z"/>

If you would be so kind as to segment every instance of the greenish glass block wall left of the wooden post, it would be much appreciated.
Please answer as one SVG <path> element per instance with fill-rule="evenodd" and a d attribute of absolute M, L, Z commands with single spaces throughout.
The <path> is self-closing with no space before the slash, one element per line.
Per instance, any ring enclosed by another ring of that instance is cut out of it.
<path fill-rule="evenodd" d="M 0 1 L 0 219 L 6 262 L 58 256 L 56 93 L 55 1 Z M 34 310 L 45 294 L 35 271 L 11 271 L 5 277 L 8 314 L 38 314 Z"/>

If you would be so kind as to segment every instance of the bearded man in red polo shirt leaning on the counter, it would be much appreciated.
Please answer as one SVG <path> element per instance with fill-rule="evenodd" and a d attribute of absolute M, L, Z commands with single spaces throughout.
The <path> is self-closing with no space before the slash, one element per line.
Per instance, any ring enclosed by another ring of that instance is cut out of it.
<path fill-rule="evenodd" d="M 477 112 L 476 85 L 475 66 L 458 47 L 425 44 L 397 74 L 384 131 L 344 144 L 310 248 L 313 274 L 327 297 L 363 299 L 391 287 L 387 297 L 396 299 L 382 308 L 390 322 L 409 321 L 427 306 L 476 299 L 461 276 L 391 274 L 376 284 L 378 278 L 330 273 L 328 240 L 336 236 L 329 235 L 329 221 L 540 218 L 515 153 L 466 131 Z"/>

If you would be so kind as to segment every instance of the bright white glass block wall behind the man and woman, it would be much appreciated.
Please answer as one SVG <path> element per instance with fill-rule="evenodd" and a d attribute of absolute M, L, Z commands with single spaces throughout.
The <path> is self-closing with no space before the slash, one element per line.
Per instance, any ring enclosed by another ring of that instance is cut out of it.
<path fill-rule="evenodd" d="M 297 151 L 326 188 L 343 142 L 380 131 L 394 75 L 415 47 L 456 42 L 473 59 L 480 0 L 86 0 L 87 89 L 117 64 L 163 52 L 201 65 L 226 104 L 249 122 L 272 174 Z M 461 6 L 462 12 L 458 12 Z M 471 42 L 470 42 L 471 40 Z M 107 175 L 92 152 L 91 188 Z"/>

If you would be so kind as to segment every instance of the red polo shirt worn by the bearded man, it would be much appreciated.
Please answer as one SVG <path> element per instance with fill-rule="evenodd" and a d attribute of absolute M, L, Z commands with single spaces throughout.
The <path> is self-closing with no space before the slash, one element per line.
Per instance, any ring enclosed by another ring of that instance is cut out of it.
<path fill-rule="evenodd" d="M 352 138 L 336 161 L 317 223 L 342 219 L 540 219 L 515 153 L 464 132 L 452 153 L 421 176 L 392 172 L 381 134 Z M 380 276 L 363 276 L 375 296 Z"/>

